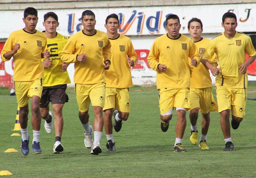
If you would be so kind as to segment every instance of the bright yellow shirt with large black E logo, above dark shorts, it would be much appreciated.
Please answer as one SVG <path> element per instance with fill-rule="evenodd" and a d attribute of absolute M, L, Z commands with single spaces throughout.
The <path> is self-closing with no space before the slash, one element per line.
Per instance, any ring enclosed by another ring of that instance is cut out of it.
<path fill-rule="evenodd" d="M 60 55 L 67 40 L 68 37 L 62 36 L 59 33 L 57 33 L 55 38 L 47 38 L 46 49 L 50 52 L 49 59 L 52 61 L 52 66 L 44 68 L 44 87 L 71 83 L 67 71 L 63 72 L 61 69 L 63 61 Z M 42 61 L 44 60 L 46 59 L 42 59 Z"/>

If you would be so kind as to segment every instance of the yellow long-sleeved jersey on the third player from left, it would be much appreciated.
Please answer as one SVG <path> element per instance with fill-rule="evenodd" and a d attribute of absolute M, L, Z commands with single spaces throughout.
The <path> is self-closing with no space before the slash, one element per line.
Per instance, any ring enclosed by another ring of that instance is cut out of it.
<path fill-rule="evenodd" d="M 76 61 L 79 54 L 87 54 L 85 62 Z M 105 82 L 103 63 L 111 61 L 111 43 L 105 32 L 96 31 L 93 35 L 81 30 L 69 38 L 61 52 L 61 60 L 75 62 L 74 82 L 83 85 Z"/>

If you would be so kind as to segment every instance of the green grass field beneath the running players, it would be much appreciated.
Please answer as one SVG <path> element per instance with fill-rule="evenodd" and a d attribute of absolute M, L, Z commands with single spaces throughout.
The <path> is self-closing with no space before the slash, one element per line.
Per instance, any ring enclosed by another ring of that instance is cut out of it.
<path fill-rule="evenodd" d="M 256 98 L 256 84 L 248 87 L 248 96 Z M 256 176 L 256 101 L 247 100 L 246 116 L 238 130 L 231 130 L 235 151 L 224 152 L 224 137 L 219 124 L 219 114 L 211 113 L 207 136 L 210 150 L 201 151 L 189 141 L 190 123 L 183 146 L 188 152 L 174 153 L 176 113 L 169 130 L 160 129 L 158 91 L 155 87 L 131 89 L 131 114 L 119 133 L 113 133 L 116 152 L 106 152 L 105 131 L 101 140 L 102 153 L 90 155 L 84 147 L 84 131 L 78 118 L 76 96 L 68 88 L 69 102 L 64 106 L 64 130 L 61 142 L 64 152 L 52 154 L 54 131 L 47 134 L 44 121 L 41 124 L 40 155 L 32 154 L 32 126 L 29 114 L 30 153 L 20 153 L 20 136 L 10 136 L 17 112 L 15 96 L 0 88 L 0 171 L 9 170 L 14 177 L 254 177 Z M 90 123 L 93 113 L 90 108 Z M 198 119 L 201 135 L 201 115 Z M 15 148 L 17 153 L 4 153 Z"/>

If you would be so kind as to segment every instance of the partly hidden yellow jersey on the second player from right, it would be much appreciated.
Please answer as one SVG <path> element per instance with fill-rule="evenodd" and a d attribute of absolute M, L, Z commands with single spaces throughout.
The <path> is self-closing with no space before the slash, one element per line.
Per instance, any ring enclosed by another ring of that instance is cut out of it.
<path fill-rule="evenodd" d="M 204 54 L 209 42 L 210 40 L 205 38 L 195 42 L 199 54 Z M 211 57 L 211 63 L 216 64 L 216 62 L 216 54 L 213 54 Z M 190 88 L 208 88 L 212 86 L 212 79 L 209 70 L 202 63 L 200 63 L 198 67 L 190 66 L 190 72 Z"/>

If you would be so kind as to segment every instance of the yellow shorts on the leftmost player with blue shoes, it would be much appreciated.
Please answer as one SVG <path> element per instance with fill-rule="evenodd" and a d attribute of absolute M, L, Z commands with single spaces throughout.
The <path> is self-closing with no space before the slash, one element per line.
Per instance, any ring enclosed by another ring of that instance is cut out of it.
<path fill-rule="evenodd" d="M 15 81 L 15 93 L 19 107 L 24 107 L 28 104 L 29 98 L 39 96 L 41 98 L 44 79 L 39 78 L 29 82 Z"/>

